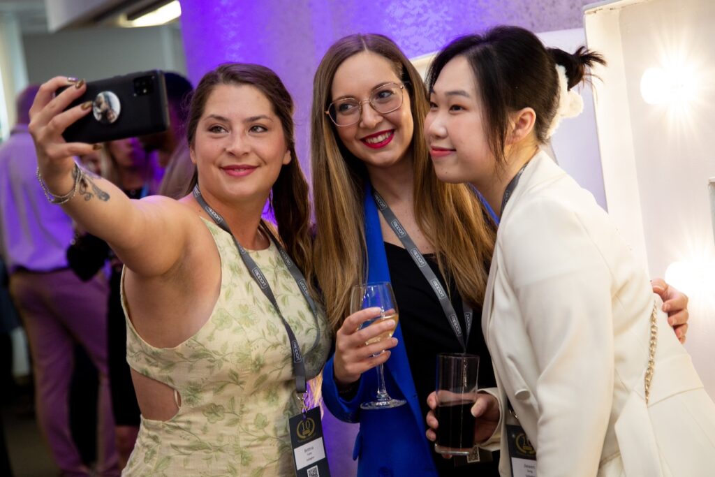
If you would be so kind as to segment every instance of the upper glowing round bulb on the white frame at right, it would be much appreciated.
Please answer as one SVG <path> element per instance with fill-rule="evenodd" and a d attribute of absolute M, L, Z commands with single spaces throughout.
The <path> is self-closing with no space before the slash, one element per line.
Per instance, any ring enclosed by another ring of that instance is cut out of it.
<path fill-rule="evenodd" d="M 686 103 L 695 98 L 696 89 L 689 68 L 649 68 L 641 77 L 641 96 L 648 104 Z"/>

